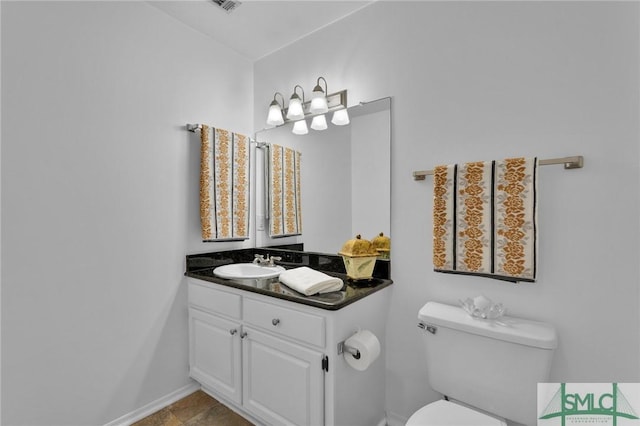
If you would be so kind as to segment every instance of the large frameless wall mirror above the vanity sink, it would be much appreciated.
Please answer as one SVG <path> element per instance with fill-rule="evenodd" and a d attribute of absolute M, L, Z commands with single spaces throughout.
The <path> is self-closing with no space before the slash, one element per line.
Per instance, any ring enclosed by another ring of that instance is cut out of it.
<path fill-rule="evenodd" d="M 294 135 L 292 123 L 287 123 L 256 133 L 258 142 L 301 153 L 302 206 L 302 234 L 271 238 L 265 204 L 268 154 L 257 149 L 256 247 L 302 243 L 305 251 L 336 254 L 356 234 L 369 240 L 380 232 L 390 236 L 391 98 L 360 103 L 348 111 L 346 126 L 328 123 L 326 130 Z"/>

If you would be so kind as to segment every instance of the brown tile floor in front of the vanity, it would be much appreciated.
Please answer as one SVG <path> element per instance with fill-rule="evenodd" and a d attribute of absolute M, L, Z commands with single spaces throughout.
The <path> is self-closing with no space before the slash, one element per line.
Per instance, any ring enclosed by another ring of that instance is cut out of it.
<path fill-rule="evenodd" d="M 199 390 L 132 426 L 253 426 L 253 423 Z"/>

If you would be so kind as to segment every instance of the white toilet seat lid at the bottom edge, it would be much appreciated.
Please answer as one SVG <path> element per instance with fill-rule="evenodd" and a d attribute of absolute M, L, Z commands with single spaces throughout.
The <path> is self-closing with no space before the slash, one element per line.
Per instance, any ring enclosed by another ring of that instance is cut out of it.
<path fill-rule="evenodd" d="M 406 426 L 506 426 L 495 417 L 441 399 L 413 413 Z"/>

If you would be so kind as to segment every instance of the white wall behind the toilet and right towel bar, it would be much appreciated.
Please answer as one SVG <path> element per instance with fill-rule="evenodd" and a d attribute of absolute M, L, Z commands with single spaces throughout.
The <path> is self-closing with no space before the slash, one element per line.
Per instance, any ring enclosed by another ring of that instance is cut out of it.
<path fill-rule="evenodd" d="M 437 398 L 416 327 L 427 300 L 484 293 L 552 322 L 552 381 L 640 380 L 638 22 L 637 2 L 377 2 L 256 63 L 256 128 L 274 91 L 320 75 L 352 104 L 393 96 L 392 420 Z M 540 171 L 535 284 L 430 270 L 432 183 L 412 171 L 566 155 L 585 168 Z"/>

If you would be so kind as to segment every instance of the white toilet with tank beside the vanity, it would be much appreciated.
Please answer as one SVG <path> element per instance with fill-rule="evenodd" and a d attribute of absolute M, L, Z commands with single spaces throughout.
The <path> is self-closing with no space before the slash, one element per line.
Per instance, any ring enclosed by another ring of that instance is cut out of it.
<path fill-rule="evenodd" d="M 558 342 L 552 325 L 475 319 L 437 302 L 424 305 L 418 318 L 429 385 L 448 400 L 422 407 L 406 426 L 536 424 L 537 384 L 547 381 Z"/>

